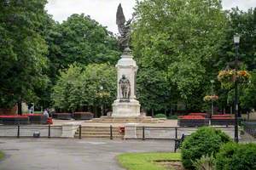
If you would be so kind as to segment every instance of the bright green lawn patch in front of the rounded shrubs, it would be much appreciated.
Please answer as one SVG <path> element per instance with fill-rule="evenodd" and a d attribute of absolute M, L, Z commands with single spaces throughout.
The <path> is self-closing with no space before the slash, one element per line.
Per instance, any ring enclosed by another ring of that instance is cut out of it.
<path fill-rule="evenodd" d="M 156 160 L 181 160 L 180 153 L 128 153 L 118 156 L 119 163 L 127 170 L 165 170 Z"/>

